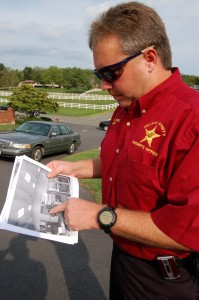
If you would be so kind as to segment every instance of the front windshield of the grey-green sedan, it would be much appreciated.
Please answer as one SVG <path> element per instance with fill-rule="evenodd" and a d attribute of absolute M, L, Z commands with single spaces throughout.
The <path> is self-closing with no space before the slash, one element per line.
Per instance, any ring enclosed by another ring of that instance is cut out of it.
<path fill-rule="evenodd" d="M 47 124 L 27 122 L 19 126 L 15 131 L 47 136 L 50 131 L 50 126 Z"/>

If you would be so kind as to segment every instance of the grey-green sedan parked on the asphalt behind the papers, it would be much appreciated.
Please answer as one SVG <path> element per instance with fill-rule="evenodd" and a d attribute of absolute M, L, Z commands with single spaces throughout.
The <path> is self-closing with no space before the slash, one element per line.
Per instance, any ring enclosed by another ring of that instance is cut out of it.
<path fill-rule="evenodd" d="M 25 154 L 40 161 L 46 154 L 72 154 L 80 144 L 80 135 L 66 124 L 28 121 L 13 132 L 0 134 L 0 156 Z"/>

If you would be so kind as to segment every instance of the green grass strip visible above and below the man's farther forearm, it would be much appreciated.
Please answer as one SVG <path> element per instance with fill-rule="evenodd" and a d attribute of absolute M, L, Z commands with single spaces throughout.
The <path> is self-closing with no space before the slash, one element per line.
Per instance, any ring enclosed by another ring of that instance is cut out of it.
<path fill-rule="evenodd" d="M 84 159 L 91 159 L 99 156 L 99 149 L 92 149 L 88 151 L 84 151 L 81 153 L 75 153 L 71 156 L 67 156 L 63 158 L 64 161 L 77 161 L 77 160 L 84 160 Z M 80 179 L 80 185 L 86 187 L 90 193 L 93 195 L 97 203 L 101 203 L 102 200 L 102 186 L 101 186 L 101 179 Z"/>

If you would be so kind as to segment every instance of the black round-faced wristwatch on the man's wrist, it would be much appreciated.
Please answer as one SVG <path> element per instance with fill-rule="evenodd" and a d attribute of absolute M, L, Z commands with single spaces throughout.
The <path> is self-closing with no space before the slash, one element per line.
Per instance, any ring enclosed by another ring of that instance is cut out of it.
<path fill-rule="evenodd" d="M 97 222 L 100 229 L 104 230 L 105 233 L 111 233 L 111 227 L 117 221 L 117 214 L 115 209 L 112 207 L 104 207 L 98 212 Z"/>

